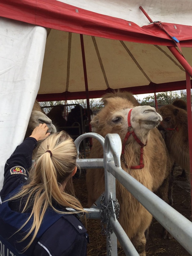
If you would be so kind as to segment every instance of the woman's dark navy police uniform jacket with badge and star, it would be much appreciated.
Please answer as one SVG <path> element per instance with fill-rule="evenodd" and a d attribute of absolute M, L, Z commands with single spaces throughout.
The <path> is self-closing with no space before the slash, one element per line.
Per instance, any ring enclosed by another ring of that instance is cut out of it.
<path fill-rule="evenodd" d="M 18 252 L 29 242 L 30 237 L 18 243 L 31 223 L 19 233 L 15 231 L 29 213 L 20 213 L 19 200 L 3 201 L 27 182 L 27 170 L 31 166 L 36 143 L 37 140 L 32 137 L 24 140 L 5 164 L 4 183 L 0 191 L 0 255 L 86 256 L 88 235 L 78 217 L 67 214 L 67 211 L 59 215 L 51 209 L 46 212 L 34 243 L 23 254 Z"/>

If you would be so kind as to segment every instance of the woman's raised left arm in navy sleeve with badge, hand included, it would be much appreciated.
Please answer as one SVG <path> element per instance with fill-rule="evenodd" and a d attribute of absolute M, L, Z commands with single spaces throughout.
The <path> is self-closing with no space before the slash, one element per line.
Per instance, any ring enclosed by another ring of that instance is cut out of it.
<path fill-rule="evenodd" d="M 46 124 L 39 124 L 30 137 L 21 143 L 5 163 L 3 188 L 0 192 L 1 200 L 28 179 L 28 169 L 31 166 L 33 150 L 37 141 L 48 137 Z"/>

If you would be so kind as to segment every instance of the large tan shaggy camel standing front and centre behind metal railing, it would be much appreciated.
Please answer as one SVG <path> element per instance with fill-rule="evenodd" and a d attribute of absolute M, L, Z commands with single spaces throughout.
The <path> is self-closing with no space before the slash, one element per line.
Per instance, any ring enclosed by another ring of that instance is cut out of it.
<path fill-rule="evenodd" d="M 140 162 L 140 145 L 132 135 L 125 145 L 124 158 L 128 167 L 124 161 L 121 161 L 121 166 L 149 190 L 157 191 L 163 181 L 168 178 L 171 169 L 165 142 L 155 128 L 162 121 L 162 117 L 155 108 L 139 106 L 137 100 L 128 92 L 106 94 L 103 97 L 103 103 L 104 108 L 92 119 L 91 124 L 95 127 L 95 132 L 103 137 L 107 133 L 118 133 L 122 143 L 128 128 L 127 116 L 133 108 L 130 121 L 134 132 L 142 143 L 148 141 L 143 151 L 144 167 L 142 169 L 129 167 L 138 165 Z M 93 140 L 90 158 L 103 158 L 102 146 L 97 140 Z M 88 169 L 86 183 L 88 206 L 91 207 L 105 191 L 104 170 Z M 164 186 L 162 191 L 163 189 Z M 167 198 L 167 191 L 164 196 Z M 150 226 L 152 216 L 118 181 L 116 181 L 116 197 L 120 204 L 119 222 L 139 255 L 144 256 L 146 255 L 144 232 Z"/>

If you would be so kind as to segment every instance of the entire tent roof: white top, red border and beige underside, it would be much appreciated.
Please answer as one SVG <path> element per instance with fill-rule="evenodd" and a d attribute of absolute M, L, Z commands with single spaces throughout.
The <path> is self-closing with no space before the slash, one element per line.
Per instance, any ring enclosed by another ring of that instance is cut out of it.
<path fill-rule="evenodd" d="M 154 21 L 162 21 L 163 29 L 149 24 L 140 5 Z M 166 46 L 176 46 L 175 37 L 192 64 L 190 9 L 191 1 L 183 5 L 148 0 L 8 0 L 0 15 L 52 29 L 37 95 L 46 101 L 86 98 L 85 68 L 90 98 L 117 88 L 134 94 L 184 89 L 185 70 Z"/>

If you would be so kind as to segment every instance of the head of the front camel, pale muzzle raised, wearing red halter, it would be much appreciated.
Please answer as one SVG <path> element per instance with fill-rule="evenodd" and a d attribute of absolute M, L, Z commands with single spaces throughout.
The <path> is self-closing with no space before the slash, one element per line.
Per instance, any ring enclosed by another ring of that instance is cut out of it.
<path fill-rule="evenodd" d="M 95 116 L 91 124 L 95 127 L 95 132 L 103 137 L 107 133 L 118 133 L 123 140 L 128 130 L 128 113 L 131 125 L 138 137 L 145 140 L 149 130 L 155 128 L 162 117 L 150 106 L 135 106 L 133 103 L 121 97 L 106 98 L 105 107 Z M 145 141 L 144 141 L 145 142 Z"/>

